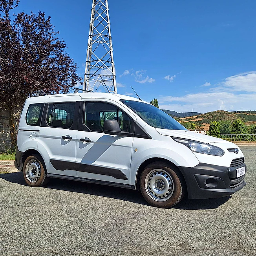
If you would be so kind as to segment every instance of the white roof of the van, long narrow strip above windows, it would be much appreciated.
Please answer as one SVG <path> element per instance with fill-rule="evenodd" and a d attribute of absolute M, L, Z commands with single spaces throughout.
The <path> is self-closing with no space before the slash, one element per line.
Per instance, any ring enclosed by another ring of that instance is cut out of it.
<path fill-rule="evenodd" d="M 63 94 L 52 94 L 52 95 L 45 95 L 45 96 L 37 96 L 28 98 L 26 101 L 32 102 L 46 102 L 50 97 L 72 97 L 79 95 L 82 99 L 112 99 L 115 101 L 119 101 L 120 99 L 130 100 L 130 101 L 140 101 L 137 98 L 130 97 L 127 95 L 122 94 L 115 94 L 115 93 L 104 93 L 104 92 L 86 92 L 86 93 L 63 93 Z M 146 101 L 140 101 L 144 103 L 148 103 Z"/>

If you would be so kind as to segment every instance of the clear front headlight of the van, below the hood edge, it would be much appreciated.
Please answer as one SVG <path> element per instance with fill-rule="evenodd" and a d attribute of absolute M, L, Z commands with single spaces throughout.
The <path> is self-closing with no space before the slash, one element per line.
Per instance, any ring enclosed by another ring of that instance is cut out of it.
<path fill-rule="evenodd" d="M 219 147 L 212 146 L 210 144 L 201 143 L 198 141 L 192 141 L 190 139 L 181 139 L 172 137 L 178 143 L 184 144 L 188 148 L 190 148 L 193 152 L 207 154 L 207 155 L 217 155 L 222 156 L 224 155 L 224 150 Z"/>

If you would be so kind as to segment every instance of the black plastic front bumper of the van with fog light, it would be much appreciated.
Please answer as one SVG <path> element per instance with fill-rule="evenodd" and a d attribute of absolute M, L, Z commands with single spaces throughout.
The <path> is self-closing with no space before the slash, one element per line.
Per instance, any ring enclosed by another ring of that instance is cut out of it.
<path fill-rule="evenodd" d="M 245 166 L 223 167 L 199 163 L 191 167 L 178 166 L 182 172 L 188 190 L 188 198 L 207 199 L 234 194 L 246 185 L 245 175 L 236 178 L 236 169 Z"/>

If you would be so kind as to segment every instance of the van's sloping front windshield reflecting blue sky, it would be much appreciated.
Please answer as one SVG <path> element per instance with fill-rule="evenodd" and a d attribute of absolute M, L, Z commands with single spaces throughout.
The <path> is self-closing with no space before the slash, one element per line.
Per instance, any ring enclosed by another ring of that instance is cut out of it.
<path fill-rule="evenodd" d="M 183 125 L 170 117 L 170 115 L 151 104 L 130 100 L 120 101 L 139 115 L 139 117 L 150 126 L 167 130 L 187 130 Z"/>

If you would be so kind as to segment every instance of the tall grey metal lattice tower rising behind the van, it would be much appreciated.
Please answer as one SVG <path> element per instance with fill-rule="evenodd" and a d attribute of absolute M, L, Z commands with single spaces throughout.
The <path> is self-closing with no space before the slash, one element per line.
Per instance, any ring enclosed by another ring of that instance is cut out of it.
<path fill-rule="evenodd" d="M 97 91 L 100 86 L 117 93 L 108 0 L 92 1 L 84 74 L 84 90 Z"/>

